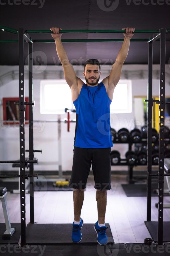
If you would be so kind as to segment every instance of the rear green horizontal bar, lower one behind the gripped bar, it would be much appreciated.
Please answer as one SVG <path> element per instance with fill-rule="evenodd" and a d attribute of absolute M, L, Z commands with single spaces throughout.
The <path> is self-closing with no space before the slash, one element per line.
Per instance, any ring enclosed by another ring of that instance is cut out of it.
<path fill-rule="evenodd" d="M 61 39 L 63 43 L 92 43 L 92 42 L 123 42 L 124 39 Z M 130 39 L 132 42 L 148 42 L 149 39 Z M 33 43 L 55 43 L 54 39 L 34 39 Z M 156 41 L 160 41 L 157 39 Z M 166 41 L 170 41 L 170 38 L 166 38 Z M 26 43 L 27 41 L 24 40 Z M 0 40 L 0 43 L 18 43 L 18 40 Z"/>

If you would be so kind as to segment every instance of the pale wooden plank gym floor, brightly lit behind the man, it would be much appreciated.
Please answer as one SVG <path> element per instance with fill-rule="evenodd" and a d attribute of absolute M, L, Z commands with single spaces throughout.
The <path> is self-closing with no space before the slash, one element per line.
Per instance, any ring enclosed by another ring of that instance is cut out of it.
<path fill-rule="evenodd" d="M 64 178 L 70 178 L 64 176 Z M 27 181 L 26 181 L 27 182 Z M 111 176 L 112 189 L 107 191 L 107 208 L 105 223 L 110 224 L 115 243 L 143 243 L 146 237 L 151 237 L 145 224 L 146 197 L 127 197 L 121 184 L 126 184 L 126 175 Z M 89 175 L 81 218 L 84 223 L 95 223 L 97 202 L 95 200 L 93 175 Z M 158 209 L 155 203 L 158 197 L 152 197 L 152 221 L 158 219 Z M 164 202 L 170 202 L 170 197 L 164 197 Z M 20 222 L 20 194 L 7 194 L 7 203 L 11 223 Z M 37 223 L 73 223 L 73 191 L 35 192 L 34 196 L 35 222 Z M 2 204 L 0 203 L 2 213 Z M 170 220 L 170 208 L 164 209 L 164 221 Z M 30 221 L 29 194 L 26 194 L 26 224 Z M 4 221 L 0 214 L 0 222 Z M 71 230 L 70 230 L 71 235 Z"/>

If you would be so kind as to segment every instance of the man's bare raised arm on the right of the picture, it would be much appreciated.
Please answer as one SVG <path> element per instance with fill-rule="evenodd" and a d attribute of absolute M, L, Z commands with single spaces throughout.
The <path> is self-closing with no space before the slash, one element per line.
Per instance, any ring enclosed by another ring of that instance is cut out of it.
<path fill-rule="evenodd" d="M 122 28 L 123 30 L 125 28 Z M 110 75 L 106 78 L 103 79 L 103 84 L 106 86 L 106 89 L 108 89 L 110 87 L 110 89 L 115 88 L 116 84 L 119 82 L 120 80 L 120 76 L 121 76 L 121 71 L 122 71 L 122 66 L 124 61 L 126 60 L 126 57 L 128 55 L 128 51 L 129 51 L 129 45 L 130 45 L 130 38 L 133 37 L 133 32 L 135 31 L 135 28 L 133 27 L 127 27 L 126 28 L 126 33 L 123 33 L 123 35 L 125 36 L 123 44 L 121 49 L 119 50 L 119 53 L 117 54 L 116 57 L 116 61 L 112 66 L 112 69 L 110 71 Z"/>

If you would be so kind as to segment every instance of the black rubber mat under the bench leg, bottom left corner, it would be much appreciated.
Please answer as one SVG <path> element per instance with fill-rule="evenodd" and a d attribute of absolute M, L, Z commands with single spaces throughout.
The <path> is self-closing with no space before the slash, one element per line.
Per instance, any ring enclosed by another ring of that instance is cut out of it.
<path fill-rule="evenodd" d="M 8 244 L 8 243 L 18 243 L 19 237 L 21 235 L 21 224 L 20 223 L 11 223 L 11 228 L 15 228 L 14 234 L 10 239 L 2 239 L 2 234 L 6 231 L 5 223 L 0 223 L 0 244 Z"/>

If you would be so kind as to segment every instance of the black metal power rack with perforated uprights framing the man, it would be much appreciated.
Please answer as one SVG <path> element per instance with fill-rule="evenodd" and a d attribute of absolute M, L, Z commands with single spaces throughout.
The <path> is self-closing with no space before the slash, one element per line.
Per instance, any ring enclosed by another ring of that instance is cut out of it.
<path fill-rule="evenodd" d="M 37 177 L 34 174 L 33 163 L 37 160 L 33 160 L 33 83 L 32 83 L 32 59 L 29 58 L 29 103 L 26 103 L 24 98 L 24 42 L 27 42 L 28 55 L 32 56 L 32 44 L 33 42 L 54 42 L 54 40 L 33 40 L 28 33 L 51 33 L 50 30 L 24 30 L 19 28 L 18 30 L 0 26 L 2 31 L 7 31 L 18 35 L 19 40 L 6 40 L 0 41 L 0 43 L 19 42 L 19 161 L 0 161 L 0 163 L 7 162 L 19 162 L 20 163 L 20 188 L 21 188 L 21 246 L 26 245 L 26 222 L 25 222 L 25 179 L 30 177 L 30 222 L 34 224 L 34 186 L 33 177 Z M 125 33 L 126 30 L 62 30 L 62 33 Z M 151 221 L 151 178 L 153 175 L 158 176 L 159 194 L 158 194 L 158 245 L 163 243 L 163 198 L 164 198 L 164 121 L 165 121 L 165 44 L 166 33 L 170 33 L 170 30 L 161 28 L 160 30 L 135 30 L 135 33 L 156 33 L 148 39 L 131 39 L 131 41 L 145 41 L 148 42 L 148 136 L 147 136 L 147 163 L 148 163 L 148 177 L 147 177 L 147 220 Z M 168 41 L 169 39 L 167 39 Z M 122 42 L 123 39 L 66 39 L 62 42 Z M 153 63 L 153 42 L 160 41 L 160 95 L 159 95 L 159 172 L 158 174 L 152 174 L 152 63 Z M 29 104 L 29 161 L 25 161 L 25 104 Z M 25 164 L 30 163 L 30 174 L 25 174 Z M 1 175 L 0 175 L 1 177 Z M 8 176 L 9 177 L 9 176 Z M 12 176 L 14 177 L 14 176 Z M 16 177 L 18 177 L 16 175 Z"/>

